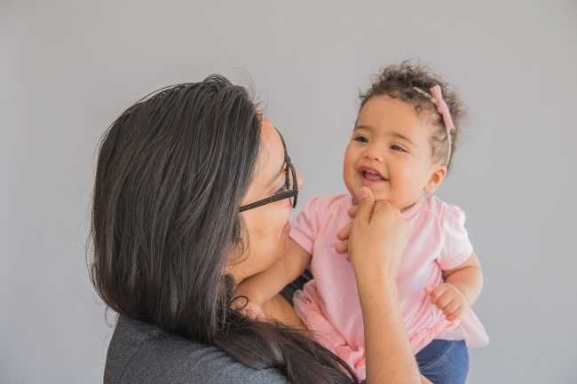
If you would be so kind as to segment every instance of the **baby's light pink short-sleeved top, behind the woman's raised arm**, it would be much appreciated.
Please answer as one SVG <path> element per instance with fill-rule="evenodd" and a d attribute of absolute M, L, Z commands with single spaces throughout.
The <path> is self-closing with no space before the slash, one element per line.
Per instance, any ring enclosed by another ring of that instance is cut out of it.
<path fill-rule="evenodd" d="M 318 341 L 364 380 L 365 338 L 354 271 L 346 255 L 335 251 L 336 233 L 352 220 L 347 214 L 351 207 L 349 194 L 315 197 L 296 216 L 290 237 L 312 255 L 314 279 L 296 292 L 294 304 L 296 314 Z M 397 286 L 413 352 L 433 339 L 485 346 L 489 342 L 485 328 L 472 310 L 459 320 L 448 321 L 423 289 L 439 286 L 442 270 L 461 265 L 473 252 L 462 210 L 435 197 L 422 197 L 402 216 L 408 222 L 409 240 Z"/>

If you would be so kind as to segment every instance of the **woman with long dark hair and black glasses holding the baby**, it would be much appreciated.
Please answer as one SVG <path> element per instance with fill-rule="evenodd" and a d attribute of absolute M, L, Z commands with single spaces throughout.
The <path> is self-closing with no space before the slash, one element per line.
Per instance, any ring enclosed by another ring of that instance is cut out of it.
<path fill-rule="evenodd" d="M 105 383 L 356 382 L 280 295 L 255 320 L 233 294 L 283 255 L 302 184 L 280 134 L 221 76 L 159 90 L 112 124 L 92 212 L 91 278 L 119 314 Z M 348 247 L 370 384 L 419 382 L 394 284 L 406 238 L 367 189 Z"/>

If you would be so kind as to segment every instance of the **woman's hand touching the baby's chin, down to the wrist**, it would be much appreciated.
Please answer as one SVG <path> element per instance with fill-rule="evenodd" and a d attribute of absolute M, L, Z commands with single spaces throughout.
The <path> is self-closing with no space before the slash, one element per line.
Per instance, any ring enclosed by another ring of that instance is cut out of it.
<path fill-rule="evenodd" d="M 397 278 L 400 258 L 407 247 L 407 221 L 388 201 L 375 201 L 367 187 L 360 189 L 359 199 L 350 228 L 339 233 L 344 238 L 349 232 L 346 248 L 352 267 L 363 276 L 376 272 L 384 273 L 382 277 Z"/>

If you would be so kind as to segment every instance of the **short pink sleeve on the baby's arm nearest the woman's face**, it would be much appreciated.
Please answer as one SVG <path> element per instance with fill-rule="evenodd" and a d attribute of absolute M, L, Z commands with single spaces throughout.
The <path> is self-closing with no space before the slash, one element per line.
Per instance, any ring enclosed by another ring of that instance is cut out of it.
<path fill-rule="evenodd" d="M 308 200 L 291 224 L 290 237 L 311 255 L 314 239 L 319 233 L 322 213 L 326 212 L 326 208 L 323 209 L 325 206 L 326 204 L 320 197 Z"/>

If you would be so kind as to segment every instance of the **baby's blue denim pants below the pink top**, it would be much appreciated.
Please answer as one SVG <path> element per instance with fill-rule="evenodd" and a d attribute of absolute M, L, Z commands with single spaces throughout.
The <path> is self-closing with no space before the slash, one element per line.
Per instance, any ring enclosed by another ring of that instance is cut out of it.
<path fill-rule="evenodd" d="M 465 341 L 433 340 L 415 355 L 419 371 L 434 384 L 464 384 L 469 372 Z"/>

